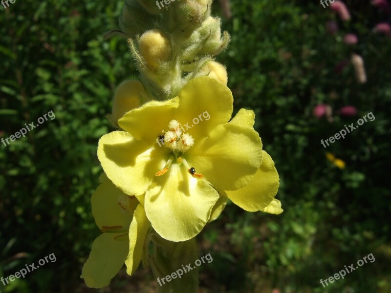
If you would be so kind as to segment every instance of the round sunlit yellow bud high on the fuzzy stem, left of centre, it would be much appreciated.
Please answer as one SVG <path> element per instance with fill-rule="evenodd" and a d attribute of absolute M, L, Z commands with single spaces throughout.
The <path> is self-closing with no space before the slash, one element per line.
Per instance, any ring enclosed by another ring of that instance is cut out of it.
<path fill-rule="evenodd" d="M 159 29 L 146 31 L 140 37 L 138 46 L 141 56 L 151 67 L 157 67 L 161 62 L 167 62 L 171 58 L 170 40 Z"/>

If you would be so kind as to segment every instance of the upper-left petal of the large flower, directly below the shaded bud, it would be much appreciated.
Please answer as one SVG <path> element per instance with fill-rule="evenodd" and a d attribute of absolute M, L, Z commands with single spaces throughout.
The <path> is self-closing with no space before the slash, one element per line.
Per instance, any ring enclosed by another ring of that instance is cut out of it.
<path fill-rule="evenodd" d="M 118 120 L 118 125 L 134 138 L 156 145 L 157 136 L 162 134 L 162 130 L 167 130 L 178 103 L 178 98 L 148 102 L 126 113 Z"/>

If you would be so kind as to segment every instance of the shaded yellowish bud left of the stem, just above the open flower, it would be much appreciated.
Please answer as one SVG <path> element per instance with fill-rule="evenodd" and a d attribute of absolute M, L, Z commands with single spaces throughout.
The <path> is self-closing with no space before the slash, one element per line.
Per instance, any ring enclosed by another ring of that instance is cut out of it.
<path fill-rule="evenodd" d="M 148 96 L 143 84 L 139 81 L 128 80 L 120 84 L 114 94 L 112 120 L 117 123 L 124 114 L 141 105 Z"/>

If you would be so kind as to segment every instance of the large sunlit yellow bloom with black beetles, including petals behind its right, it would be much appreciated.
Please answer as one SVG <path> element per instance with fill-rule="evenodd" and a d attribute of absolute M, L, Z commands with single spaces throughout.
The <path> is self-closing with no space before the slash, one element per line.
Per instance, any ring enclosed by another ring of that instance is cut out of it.
<path fill-rule="evenodd" d="M 218 216 L 225 196 L 246 210 L 282 211 L 267 209 L 278 206 L 272 201 L 279 177 L 253 129 L 254 112 L 239 111 L 229 122 L 232 111 L 229 88 L 200 77 L 174 99 L 129 111 L 118 121 L 126 131 L 100 139 L 98 158 L 107 176 L 144 201 L 163 238 L 193 238 Z"/>

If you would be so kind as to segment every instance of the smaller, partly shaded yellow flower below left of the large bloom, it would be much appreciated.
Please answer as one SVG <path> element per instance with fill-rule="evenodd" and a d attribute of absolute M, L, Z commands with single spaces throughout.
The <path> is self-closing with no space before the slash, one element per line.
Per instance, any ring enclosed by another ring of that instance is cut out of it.
<path fill-rule="evenodd" d="M 81 278 L 90 288 L 102 288 L 126 263 L 129 274 L 140 264 L 151 226 L 144 208 L 134 196 L 115 187 L 104 174 L 91 197 L 92 214 L 103 232 L 92 244 Z"/>

